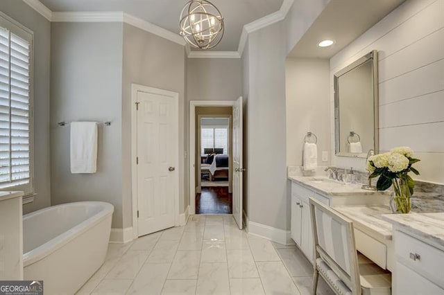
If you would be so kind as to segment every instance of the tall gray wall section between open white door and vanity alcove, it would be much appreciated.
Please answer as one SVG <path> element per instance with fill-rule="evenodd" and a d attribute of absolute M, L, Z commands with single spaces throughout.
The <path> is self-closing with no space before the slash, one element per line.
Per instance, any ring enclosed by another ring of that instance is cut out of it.
<path fill-rule="evenodd" d="M 289 228 L 285 161 L 285 53 L 283 24 L 248 36 L 248 217 Z M 287 221 L 288 220 L 288 221 Z"/>

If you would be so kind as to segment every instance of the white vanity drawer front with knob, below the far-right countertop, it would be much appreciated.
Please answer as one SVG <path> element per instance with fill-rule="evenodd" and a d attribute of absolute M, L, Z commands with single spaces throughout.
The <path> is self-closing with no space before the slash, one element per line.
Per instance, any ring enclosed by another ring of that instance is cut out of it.
<path fill-rule="evenodd" d="M 395 231 L 396 260 L 444 288 L 444 252 L 401 231 Z"/>

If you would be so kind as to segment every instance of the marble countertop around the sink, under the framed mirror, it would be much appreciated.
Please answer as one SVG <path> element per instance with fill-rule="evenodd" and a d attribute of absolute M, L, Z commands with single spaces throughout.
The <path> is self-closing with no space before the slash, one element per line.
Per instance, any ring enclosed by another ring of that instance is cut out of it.
<path fill-rule="evenodd" d="M 343 182 L 334 181 L 328 179 L 327 177 L 320 176 L 299 176 L 299 175 L 289 175 L 291 181 L 296 181 L 302 186 L 308 186 L 309 188 L 314 188 L 318 190 L 319 193 L 323 195 L 386 195 L 386 191 L 374 191 L 374 190 L 363 190 L 361 184 L 344 184 Z M 324 181 L 318 181 L 314 179 L 325 179 Z"/>

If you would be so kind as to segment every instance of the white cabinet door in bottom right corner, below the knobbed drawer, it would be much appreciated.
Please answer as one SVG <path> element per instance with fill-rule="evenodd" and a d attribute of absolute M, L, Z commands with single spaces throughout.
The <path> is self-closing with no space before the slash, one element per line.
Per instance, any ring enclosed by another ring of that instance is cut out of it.
<path fill-rule="evenodd" d="M 400 262 L 396 262 L 392 285 L 394 295 L 444 294 L 444 289 L 441 289 Z"/>

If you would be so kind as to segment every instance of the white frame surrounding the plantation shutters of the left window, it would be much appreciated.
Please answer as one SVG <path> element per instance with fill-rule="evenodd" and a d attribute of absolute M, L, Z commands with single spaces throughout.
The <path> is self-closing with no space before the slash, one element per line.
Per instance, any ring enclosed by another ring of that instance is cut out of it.
<path fill-rule="evenodd" d="M 34 32 L 26 26 L 20 24 L 15 19 L 12 19 L 5 13 L 0 11 L 0 27 L 6 28 L 14 35 L 30 42 L 29 54 L 29 183 L 15 186 L 8 186 L 0 188 L 1 191 L 21 190 L 24 192 L 24 197 L 33 197 L 35 193 L 34 185 Z M 26 36 L 25 36 L 26 35 Z M 32 200 L 31 200 L 32 202 Z M 24 204 L 27 202 L 24 201 Z"/>

